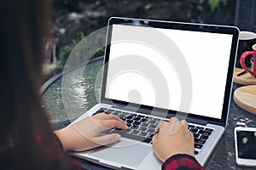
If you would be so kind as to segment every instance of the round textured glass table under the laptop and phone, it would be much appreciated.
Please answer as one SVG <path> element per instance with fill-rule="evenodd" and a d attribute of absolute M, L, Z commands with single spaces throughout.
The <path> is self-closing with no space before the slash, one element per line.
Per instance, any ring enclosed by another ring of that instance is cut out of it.
<path fill-rule="evenodd" d="M 101 82 L 96 81 L 96 77 L 101 77 L 101 69 L 103 65 L 103 57 L 90 60 L 86 66 L 86 75 L 83 73 L 82 78 L 76 77 L 75 72 L 79 69 L 84 69 L 81 64 L 70 71 L 73 74 L 72 88 L 73 94 L 66 100 L 68 105 L 75 105 L 72 115 L 67 114 L 65 105 L 62 101 L 61 93 L 61 74 L 51 78 L 48 82 L 44 83 L 42 87 L 42 99 L 44 100 L 44 107 L 47 107 L 49 116 L 56 129 L 66 127 L 70 122 L 78 116 L 81 116 L 90 107 L 96 105 L 97 97 L 100 93 Z M 78 80 L 77 80 L 78 79 Z M 101 79 L 101 78 L 98 78 Z M 233 92 L 240 85 L 234 83 L 232 88 L 232 96 L 230 101 L 230 114 L 228 125 L 224 131 L 223 137 L 220 139 L 217 147 L 213 150 L 211 157 L 205 165 L 206 169 L 255 169 L 255 167 L 239 167 L 235 161 L 235 143 L 234 143 L 234 127 L 247 126 L 256 127 L 256 115 L 242 110 L 237 106 L 233 100 Z M 86 89 L 86 90 L 85 90 Z M 101 167 L 90 161 L 78 159 L 81 167 L 88 169 L 109 169 L 108 167 Z"/>

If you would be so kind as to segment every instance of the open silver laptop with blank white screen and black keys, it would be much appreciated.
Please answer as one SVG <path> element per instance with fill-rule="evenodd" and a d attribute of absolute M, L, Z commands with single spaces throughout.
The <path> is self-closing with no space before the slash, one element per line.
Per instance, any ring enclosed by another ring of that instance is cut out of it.
<path fill-rule="evenodd" d="M 102 94 L 83 116 L 119 116 L 119 142 L 72 156 L 114 169 L 160 169 L 152 136 L 160 120 L 189 122 L 195 159 L 204 166 L 227 125 L 239 30 L 113 17 L 108 20 Z M 166 146 L 168 147 L 168 146 Z"/>

